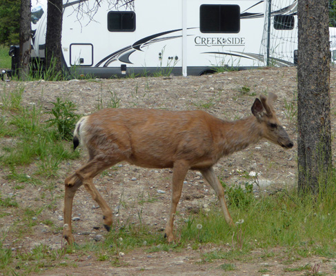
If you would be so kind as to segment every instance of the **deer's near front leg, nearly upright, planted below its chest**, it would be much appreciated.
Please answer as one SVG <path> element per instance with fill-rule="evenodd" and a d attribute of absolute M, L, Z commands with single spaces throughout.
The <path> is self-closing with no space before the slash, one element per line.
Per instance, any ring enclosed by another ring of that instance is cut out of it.
<path fill-rule="evenodd" d="M 189 166 L 185 161 L 177 161 L 172 169 L 172 201 L 170 204 L 170 213 L 166 224 L 166 230 L 164 236 L 168 242 L 174 241 L 174 235 L 172 228 L 174 226 L 174 217 L 177 209 L 177 204 L 182 193 L 183 181 L 186 178 L 186 174 L 189 170 Z"/>

